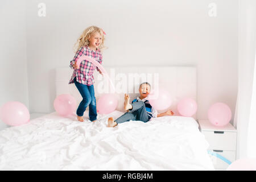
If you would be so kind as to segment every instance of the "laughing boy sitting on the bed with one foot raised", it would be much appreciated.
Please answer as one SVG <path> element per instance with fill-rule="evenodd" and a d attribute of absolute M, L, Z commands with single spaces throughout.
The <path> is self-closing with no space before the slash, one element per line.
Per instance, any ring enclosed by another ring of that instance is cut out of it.
<path fill-rule="evenodd" d="M 129 103 L 129 95 L 125 94 L 124 108 L 127 112 L 121 115 L 121 117 L 115 119 L 115 121 L 112 117 L 110 117 L 108 119 L 108 127 L 115 127 L 119 123 L 130 120 L 148 122 L 152 117 L 156 118 L 164 115 L 174 115 L 172 110 L 167 110 L 166 112 L 160 114 L 157 113 L 157 111 L 148 102 L 147 96 L 150 93 L 150 88 L 151 86 L 148 84 L 148 82 L 143 82 L 141 85 L 139 85 L 139 97 L 133 100 L 131 104 Z"/>

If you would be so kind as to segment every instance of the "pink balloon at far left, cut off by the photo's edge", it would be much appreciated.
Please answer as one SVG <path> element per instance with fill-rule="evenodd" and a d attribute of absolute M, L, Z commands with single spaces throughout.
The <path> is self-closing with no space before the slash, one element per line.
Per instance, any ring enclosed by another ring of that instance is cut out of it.
<path fill-rule="evenodd" d="M 1 120 L 10 126 L 23 125 L 30 121 L 30 112 L 20 102 L 7 102 L 1 107 L 0 113 Z"/>

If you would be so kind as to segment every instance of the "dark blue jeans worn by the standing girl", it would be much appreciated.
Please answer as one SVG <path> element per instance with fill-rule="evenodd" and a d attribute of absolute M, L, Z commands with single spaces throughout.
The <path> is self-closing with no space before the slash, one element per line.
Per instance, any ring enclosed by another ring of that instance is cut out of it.
<path fill-rule="evenodd" d="M 80 82 L 76 81 L 76 77 L 74 78 L 76 88 L 79 90 L 82 101 L 79 104 L 79 107 L 76 110 L 76 114 L 78 116 L 84 115 L 84 111 L 86 107 L 89 105 L 89 119 L 90 121 L 94 121 L 97 119 L 97 109 L 96 109 L 96 98 L 94 96 L 94 87 L 93 85 L 84 85 L 80 84 Z"/>

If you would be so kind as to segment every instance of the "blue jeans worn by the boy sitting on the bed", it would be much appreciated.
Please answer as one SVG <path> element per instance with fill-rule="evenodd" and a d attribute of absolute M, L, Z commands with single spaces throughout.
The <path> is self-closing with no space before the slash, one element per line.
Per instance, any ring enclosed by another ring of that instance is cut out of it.
<path fill-rule="evenodd" d="M 133 106 L 133 109 L 121 115 L 121 117 L 115 119 L 115 122 L 117 124 L 127 122 L 130 120 L 143 121 L 144 123 L 149 121 L 150 117 L 147 115 L 146 106 L 144 102 L 142 101 L 133 102 L 133 104 L 131 105 Z"/>

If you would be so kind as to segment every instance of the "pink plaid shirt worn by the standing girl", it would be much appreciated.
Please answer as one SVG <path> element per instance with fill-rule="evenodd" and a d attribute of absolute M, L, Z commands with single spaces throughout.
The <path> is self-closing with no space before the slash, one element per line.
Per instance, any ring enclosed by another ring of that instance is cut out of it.
<path fill-rule="evenodd" d="M 79 57 L 81 57 L 82 54 L 92 57 L 93 59 L 98 61 L 100 64 L 102 63 L 102 54 L 100 49 L 93 51 L 88 46 L 81 47 L 76 52 L 74 59 L 70 61 L 69 67 L 74 69 L 74 72 L 68 84 L 73 84 L 75 77 L 76 77 L 76 81 L 80 82 L 80 84 L 89 85 L 89 86 L 94 84 L 93 72 L 94 72 L 94 69 L 97 68 L 94 64 L 90 63 L 87 60 L 82 60 L 79 69 L 73 68 L 73 64 L 76 63 L 76 61 L 79 59 Z"/>

